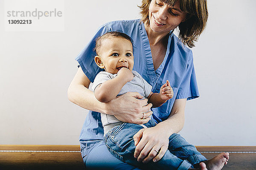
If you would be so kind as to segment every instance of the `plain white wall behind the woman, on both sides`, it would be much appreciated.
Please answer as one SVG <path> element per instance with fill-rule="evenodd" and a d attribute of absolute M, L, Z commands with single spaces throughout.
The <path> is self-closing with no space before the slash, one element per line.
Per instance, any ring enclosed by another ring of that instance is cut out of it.
<path fill-rule="evenodd" d="M 103 23 L 140 17 L 138 0 L 64 3 L 59 32 L 8 32 L 0 13 L 0 144 L 79 144 L 86 110 L 67 99 L 75 57 Z M 255 6 L 208 0 L 192 48 L 201 97 L 187 102 L 180 132 L 195 145 L 256 145 Z"/>

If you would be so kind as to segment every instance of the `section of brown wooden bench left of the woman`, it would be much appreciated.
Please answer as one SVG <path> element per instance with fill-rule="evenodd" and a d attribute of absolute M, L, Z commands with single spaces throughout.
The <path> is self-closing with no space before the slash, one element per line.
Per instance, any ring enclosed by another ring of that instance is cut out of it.
<path fill-rule="evenodd" d="M 79 145 L 0 145 L 0 151 L 0 170 L 85 169 Z"/>

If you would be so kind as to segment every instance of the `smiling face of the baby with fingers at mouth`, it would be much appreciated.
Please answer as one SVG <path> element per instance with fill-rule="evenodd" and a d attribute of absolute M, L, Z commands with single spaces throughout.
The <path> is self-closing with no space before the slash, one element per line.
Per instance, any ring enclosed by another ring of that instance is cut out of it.
<path fill-rule="evenodd" d="M 105 71 L 117 74 L 126 67 L 132 71 L 134 66 L 134 56 L 132 44 L 122 37 L 108 37 L 102 41 L 99 56 L 104 65 Z"/>

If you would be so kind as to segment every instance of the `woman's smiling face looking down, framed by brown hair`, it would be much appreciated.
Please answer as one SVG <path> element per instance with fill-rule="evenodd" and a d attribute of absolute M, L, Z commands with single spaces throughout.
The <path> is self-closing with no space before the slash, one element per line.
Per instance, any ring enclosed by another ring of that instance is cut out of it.
<path fill-rule="evenodd" d="M 161 0 L 151 0 L 148 17 L 153 31 L 169 33 L 186 20 L 186 13 L 180 10 L 179 0 L 175 6 L 169 6 Z"/>

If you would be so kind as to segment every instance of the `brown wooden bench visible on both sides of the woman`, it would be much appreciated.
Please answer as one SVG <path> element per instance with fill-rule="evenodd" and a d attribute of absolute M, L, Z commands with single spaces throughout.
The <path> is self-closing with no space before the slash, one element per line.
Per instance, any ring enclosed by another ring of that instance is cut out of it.
<path fill-rule="evenodd" d="M 197 146 L 207 159 L 230 152 L 223 170 L 256 170 L 256 147 Z M 79 145 L 0 145 L 0 170 L 84 170 Z"/>

